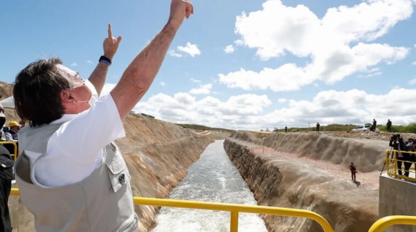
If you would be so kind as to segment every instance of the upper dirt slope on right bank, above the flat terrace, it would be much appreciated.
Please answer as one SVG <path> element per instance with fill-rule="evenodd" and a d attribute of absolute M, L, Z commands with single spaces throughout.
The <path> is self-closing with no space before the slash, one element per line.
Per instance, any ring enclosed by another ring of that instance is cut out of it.
<path fill-rule="evenodd" d="M 271 133 L 257 139 L 249 132 L 240 131 L 233 133 L 233 137 L 300 157 L 343 164 L 345 168 L 354 162 L 363 173 L 381 171 L 386 149 L 390 148 L 388 142 L 382 140 L 350 139 L 324 133 Z"/>

